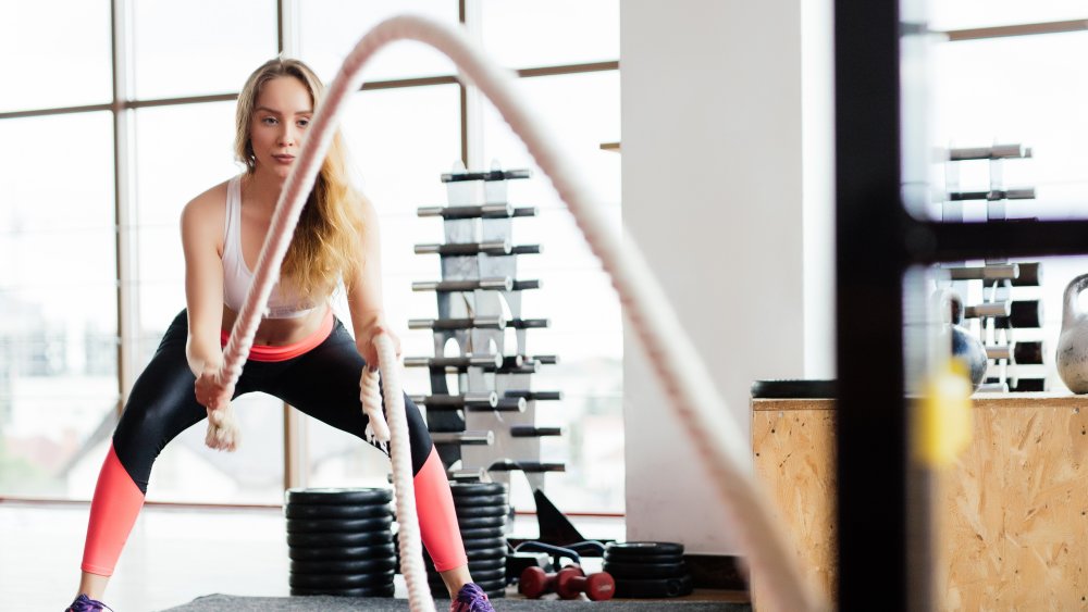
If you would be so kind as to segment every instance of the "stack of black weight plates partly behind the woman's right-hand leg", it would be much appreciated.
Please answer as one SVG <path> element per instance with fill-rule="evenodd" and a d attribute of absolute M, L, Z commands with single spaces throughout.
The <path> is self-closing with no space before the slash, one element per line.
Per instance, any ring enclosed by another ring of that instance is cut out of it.
<path fill-rule="evenodd" d="M 491 599 L 506 596 L 506 523 L 510 499 L 504 483 L 452 483 L 454 508 L 461 529 L 461 541 L 469 558 L 472 580 Z M 431 595 L 448 598 L 442 576 L 424 554 Z"/>

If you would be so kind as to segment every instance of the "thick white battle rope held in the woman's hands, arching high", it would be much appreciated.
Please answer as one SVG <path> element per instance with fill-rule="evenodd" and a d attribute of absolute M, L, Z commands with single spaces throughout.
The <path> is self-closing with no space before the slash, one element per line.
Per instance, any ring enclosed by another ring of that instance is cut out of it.
<path fill-rule="evenodd" d="M 735 520 L 742 559 L 751 566 L 752 576 L 759 580 L 759 592 L 766 594 L 761 607 L 789 612 L 825 608 L 809 592 L 790 547 L 777 525 L 771 522 L 770 505 L 752 475 L 754 470 L 747 444 L 735 421 L 727 416 L 729 411 L 710 382 L 706 365 L 698 358 L 642 253 L 633 242 L 623 240 L 608 229 L 607 220 L 599 208 L 593 205 L 590 191 L 585 188 L 586 183 L 578 168 L 570 165 L 551 138 L 545 136 L 542 124 L 533 118 L 529 108 L 515 91 L 510 75 L 485 60 L 483 53 L 460 32 L 445 25 L 416 16 L 390 18 L 367 33 L 344 60 L 324 102 L 317 109 L 301 154 L 280 195 L 271 229 L 257 263 L 254 286 L 246 296 L 231 332 L 220 376 L 236 382 L 242 373 L 260 323 L 261 311 L 276 282 L 280 263 L 286 253 L 306 196 L 338 125 L 342 102 L 361 86 L 361 71 L 370 58 L 390 42 L 404 39 L 430 45 L 453 60 L 462 71 L 463 78 L 491 100 L 526 143 L 536 164 L 552 179 L 559 198 L 573 214 L 586 241 L 611 278 L 628 322 L 648 355 L 657 378 L 669 397 L 670 405 L 710 472 L 710 479 L 717 485 L 725 508 Z M 382 350 L 380 354 L 381 371 L 386 380 L 386 409 L 394 423 L 403 423 L 404 402 L 398 376 L 394 373 L 396 359 L 390 350 Z M 237 439 L 237 422 L 232 416 L 230 407 L 221 412 L 222 414 L 209 414 L 207 440 L 212 448 L 231 450 Z M 375 425 L 375 434 L 379 427 Z M 408 507 L 401 509 L 398 505 L 398 517 L 401 526 L 401 571 L 409 584 L 409 608 L 433 610 L 433 601 L 423 590 L 425 586 L 422 586 L 426 579 L 422 574 L 418 541 L 416 548 L 406 547 L 404 541 L 405 525 L 412 525 L 418 529 L 410 476 L 396 475 L 398 463 L 410 473 L 407 459 L 404 462 L 396 459 L 401 451 L 407 457 L 407 440 L 398 437 L 406 435 L 406 432 L 394 424 L 392 434 L 394 484 L 398 504 L 404 500 Z M 412 566 L 418 566 L 419 573 Z"/>

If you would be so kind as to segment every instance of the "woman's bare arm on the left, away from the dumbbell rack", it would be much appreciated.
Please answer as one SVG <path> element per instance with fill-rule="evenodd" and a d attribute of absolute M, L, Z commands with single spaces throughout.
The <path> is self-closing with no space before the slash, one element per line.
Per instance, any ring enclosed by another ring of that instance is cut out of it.
<path fill-rule="evenodd" d="M 208 408 L 228 402 L 233 389 L 219 385 L 214 374 L 223 362 L 220 329 L 223 325 L 223 202 L 218 189 L 198 196 L 182 211 L 182 247 L 185 252 L 185 303 L 189 336 L 185 357 L 197 376 L 197 401 Z"/>

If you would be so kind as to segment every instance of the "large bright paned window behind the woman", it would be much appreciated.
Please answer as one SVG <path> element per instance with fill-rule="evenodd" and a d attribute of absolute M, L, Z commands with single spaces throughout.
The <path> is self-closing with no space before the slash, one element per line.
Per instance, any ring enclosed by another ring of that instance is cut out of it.
<path fill-rule="evenodd" d="M 521 71 L 524 98 L 618 226 L 619 157 L 599 148 L 620 137 L 617 0 L 112 8 L 50 0 L 12 10 L 13 18 L 0 21 L 0 51 L 20 58 L 13 82 L 34 87 L 12 88 L 0 100 L 8 143 L 0 150 L 0 254 L 9 262 L 0 273 L 0 497 L 91 495 L 119 403 L 184 308 L 182 207 L 239 172 L 233 97 L 280 51 L 329 82 L 383 18 L 411 12 L 454 26 L 463 21 L 503 65 Z M 200 45 L 193 45 L 194 28 Z M 546 34 L 553 30 L 562 45 Z M 124 71 L 116 78 L 114 67 Z M 568 464 L 568 473 L 547 477 L 548 490 L 567 511 L 622 511 L 619 305 L 549 182 L 455 75 L 436 51 L 394 45 L 366 73 L 380 88 L 356 93 L 344 116 L 358 182 L 381 217 L 390 319 L 405 354 L 431 353 L 430 335 L 409 332 L 407 321 L 434 314 L 433 295 L 410 287 L 438 275 L 436 258 L 416 255 L 412 246 L 442 239 L 441 222 L 416 215 L 420 205 L 445 202 L 441 174 L 466 155 L 475 165 L 498 160 L 533 170 L 531 180 L 511 186 L 511 198 L 541 209 L 515 228 L 519 242 L 544 246 L 544 254 L 520 264 L 522 275 L 545 286 L 527 297 L 527 312 L 553 321 L 533 334 L 531 347 L 561 358 L 534 380 L 534 388 L 566 395 L 541 417 L 567 428 L 544 442 L 545 460 Z M 346 316 L 343 296 L 336 308 Z M 420 371 L 406 372 L 409 392 L 429 390 Z M 385 483 L 388 463 L 358 440 L 302 419 L 306 444 L 285 446 L 281 402 L 248 396 L 236 405 L 244 448 L 210 451 L 205 424 L 193 427 L 158 460 L 150 500 L 279 503 L 289 483 Z M 285 463 L 305 467 L 285 476 Z M 528 490 L 517 495 L 524 500 Z"/>

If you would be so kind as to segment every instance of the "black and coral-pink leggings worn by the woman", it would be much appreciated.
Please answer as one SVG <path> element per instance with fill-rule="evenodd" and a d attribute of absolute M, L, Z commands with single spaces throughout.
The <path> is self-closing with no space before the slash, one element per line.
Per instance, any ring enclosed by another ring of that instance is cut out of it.
<path fill-rule="evenodd" d="M 334 324 L 326 321 L 320 333 L 325 337 L 313 339 L 317 346 L 312 349 L 276 361 L 258 361 L 261 351 L 255 347 L 234 397 L 262 391 L 366 439 L 367 417 L 359 404 L 359 377 L 366 362 L 339 321 Z M 90 504 L 84 572 L 113 574 L 121 549 L 144 505 L 156 458 L 170 440 L 207 417 L 207 410 L 197 403 L 193 392 L 196 379 L 185 359 L 187 336 L 188 321 L 182 311 L 133 386 Z M 468 558 L 446 472 L 426 424 L 407 396 L 405 408 L 420 533 L 435 569 L 444 572 L 465 565 Z"/>

